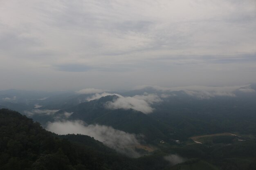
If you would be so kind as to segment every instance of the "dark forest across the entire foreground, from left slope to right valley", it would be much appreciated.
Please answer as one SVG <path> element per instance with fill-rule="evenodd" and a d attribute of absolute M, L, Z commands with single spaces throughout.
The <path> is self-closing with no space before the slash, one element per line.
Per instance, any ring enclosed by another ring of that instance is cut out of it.
<path fill-rule="evenodd" d="M 255 170 L 256 140 L 251 136 L 243 139 L 213 136 L 199 139 L 203 144 L 193 144 L 191 139 L 181 144 L 158 144 L 150 155 L 131 159 L 92 137 L 56 135 L 18 112 L 1 109 L 0 169 Z"/>

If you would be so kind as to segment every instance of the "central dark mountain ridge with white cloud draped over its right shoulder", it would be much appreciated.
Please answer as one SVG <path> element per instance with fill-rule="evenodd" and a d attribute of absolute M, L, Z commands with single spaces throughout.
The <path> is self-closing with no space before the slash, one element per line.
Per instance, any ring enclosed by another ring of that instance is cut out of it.
<path fill-rule="evenodd" d="M 152 117 L 133 109 L 110 110 L 105 107 L 106 102 L 117 96 L 106 96 L 90 102 L 83 102 L 72 108 L 60 110 L 56 115 L 64 112 L 72 113 L 70 120 L 83 120 L 87 124 L 101 124 L 112 126 L 137 135 L 144 135 L 144 140 L 150 142 L 156 139 L 167 140 L 168 134 L 173 133 L 171 126 L 157 121 Z"/>

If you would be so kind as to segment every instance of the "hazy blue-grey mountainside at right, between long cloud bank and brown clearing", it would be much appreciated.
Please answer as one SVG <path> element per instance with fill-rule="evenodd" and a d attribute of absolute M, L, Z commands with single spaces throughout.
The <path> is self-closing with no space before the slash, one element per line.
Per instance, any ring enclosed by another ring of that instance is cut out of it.
<path fill-rule="evenodd" d="M 182 139 L 220 132 L 256 134 L 255 93 L 209 99 L 173 96 L 154 107 L 150 116 L 173 126 Z"/>

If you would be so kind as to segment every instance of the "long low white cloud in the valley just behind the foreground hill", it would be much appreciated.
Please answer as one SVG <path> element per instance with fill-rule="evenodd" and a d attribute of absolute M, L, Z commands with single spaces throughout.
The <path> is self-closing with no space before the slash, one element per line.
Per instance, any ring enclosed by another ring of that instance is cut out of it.
<path fill-rule="evenodd" d="M 53 123 L 49 122 L 46 129 L 59 135 L 88 135 L 101 141 L 104 145 L 117 150 L 117 152 L 130 157 L 140 156 L 139 153 L 128 147 L 139 145 L 139 141 L 134 134 L 116 130 L 109 126 L 101 126 L 97 124 L 86 126 L 83 121 L 56 121 Z"/>

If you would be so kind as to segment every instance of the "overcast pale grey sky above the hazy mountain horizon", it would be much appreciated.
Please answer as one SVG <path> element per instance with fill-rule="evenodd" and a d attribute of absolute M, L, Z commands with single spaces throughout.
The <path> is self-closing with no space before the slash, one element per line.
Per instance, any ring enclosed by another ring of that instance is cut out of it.
<path fill-rule="evenodd" d="M 0 0 L 0 90 L 256 82 L 256 0 Z"/>

